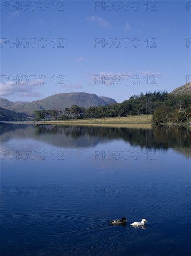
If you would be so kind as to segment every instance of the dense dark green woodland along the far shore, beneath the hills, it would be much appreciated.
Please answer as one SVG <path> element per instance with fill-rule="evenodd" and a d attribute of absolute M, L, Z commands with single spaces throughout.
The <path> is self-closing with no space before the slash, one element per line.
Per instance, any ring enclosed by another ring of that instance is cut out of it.
<path fill-rule="evenodd" d="M 36 121 L 66 120 L 80 118 L 103 118 L 128 115 L 153 114 L 153 122 L 185 122 L 191 116 L 191 97 L 167 92 L 147 92 L 134 95 L 122 103 L 84 108 L 73 105 L 64 111 L 36 110 Z"/>

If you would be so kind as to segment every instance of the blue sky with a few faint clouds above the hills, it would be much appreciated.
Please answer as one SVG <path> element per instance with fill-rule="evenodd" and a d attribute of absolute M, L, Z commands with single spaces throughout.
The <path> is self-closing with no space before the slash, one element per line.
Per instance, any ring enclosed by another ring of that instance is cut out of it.
<path fill-rule="evenodd" d="M 191 1 L 1 1 L 0 19 L 0 95 L 13 102 L 122 102 L 191 81 Z"/>

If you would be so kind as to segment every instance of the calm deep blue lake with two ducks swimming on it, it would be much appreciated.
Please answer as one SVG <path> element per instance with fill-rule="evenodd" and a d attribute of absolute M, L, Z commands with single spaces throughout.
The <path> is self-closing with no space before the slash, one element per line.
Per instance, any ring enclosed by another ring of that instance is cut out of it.
<path fill-rule="evenodd" d="M 191 254 L 188 129 L 0 124 L 0 141 L 2 256 Z"/>

